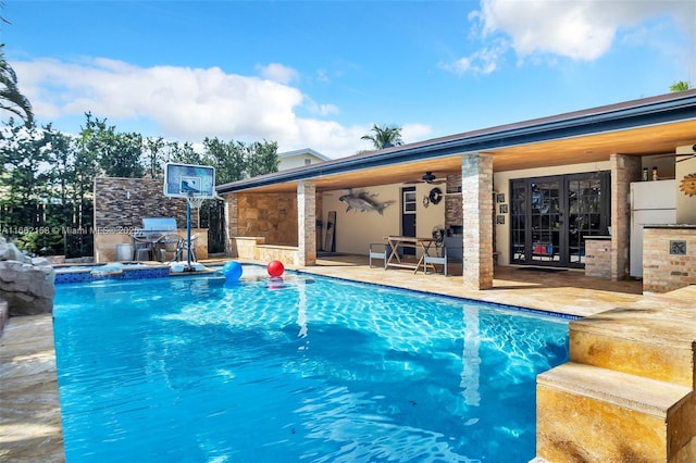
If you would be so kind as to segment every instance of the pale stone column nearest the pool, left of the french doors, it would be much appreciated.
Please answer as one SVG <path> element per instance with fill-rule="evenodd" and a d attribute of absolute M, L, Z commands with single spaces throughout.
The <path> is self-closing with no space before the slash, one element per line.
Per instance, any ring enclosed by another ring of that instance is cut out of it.
<path fill-rule="evenodd" d="M 493 157 L 461 157 L 464 287 L 493 287 Z"/>

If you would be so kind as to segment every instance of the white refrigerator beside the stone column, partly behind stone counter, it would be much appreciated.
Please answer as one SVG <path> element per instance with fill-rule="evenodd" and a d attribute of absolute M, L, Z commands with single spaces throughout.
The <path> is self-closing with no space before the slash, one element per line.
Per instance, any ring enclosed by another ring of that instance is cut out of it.
<path fill-rule="evenodd" d="M 643 227 L 676 223 L 676 180 L 631 184 L 631 276 L 643 277 Z"/>

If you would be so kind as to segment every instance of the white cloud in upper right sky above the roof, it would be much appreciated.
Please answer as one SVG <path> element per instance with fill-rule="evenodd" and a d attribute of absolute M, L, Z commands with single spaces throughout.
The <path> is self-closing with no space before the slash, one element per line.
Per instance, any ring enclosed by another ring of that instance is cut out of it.
<path fill-rule="evenodd" d="M 493 39 L 497 46 L 483 47 L 440 67 L 455 73 L 490 73 L 499 67 L 508 49 L 514 50 L 518 62 L 538 61 L 540 55 L 550 61 L 555 57 L 594 61 L 611 49 L 618 36 L 633 34 L 647 20 L 670 20 L 693 40 L 696 2 L 481 0 L 481 9 L 472 12 L 469 20 L 474 23 L 475 37 Z M 643 39 L 642 45 L 646 45 L 655 37 Z"/>

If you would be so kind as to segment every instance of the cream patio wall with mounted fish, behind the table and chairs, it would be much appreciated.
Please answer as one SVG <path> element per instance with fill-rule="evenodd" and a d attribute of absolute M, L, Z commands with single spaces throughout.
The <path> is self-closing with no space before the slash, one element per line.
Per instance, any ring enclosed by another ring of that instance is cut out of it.
<path fill-rule="evenodd" d="M 394 201 L 388 205 L 383 215 L 376 211 L 360 212 L 356 210 L 346 211 L 347 205 L 339 201 L 348 190 L 336 190 L 323 193 L 323 217 L 326 224 L 330 211 L 336 211 L 336 252 L 349 254 L 368 254 L 368 249 L 372 242 L 384 242 L 384 238 L 389 235 L 401 234 L 401 187 L 405 185 L 393 184 L 356 189 L 353 192 L 365 191 L 375 195 L 372 199 L 377 203 Z M 410 186 L 410 185 L 407 185 Z M 444 228 L 445 225 L 445 200 L 438 204 L 423 205 L 423 197 L 433 189 L 433 185 L 415 185 L 417 193 L 417 232 L 418 236 L 431 237 L 433 227 Z M 443 192 L 445 185 L 438 186 Z M 322 229 L 322 240 L 325 239 L 326 226 Z M 323 242 L 323 241 L 322 241 Z"/>

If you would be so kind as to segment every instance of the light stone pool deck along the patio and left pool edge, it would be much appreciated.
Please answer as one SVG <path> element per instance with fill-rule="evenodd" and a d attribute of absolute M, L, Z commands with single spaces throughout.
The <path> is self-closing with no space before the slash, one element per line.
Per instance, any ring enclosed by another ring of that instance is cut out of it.
<path fill-rule="evenodd" d="M 679 305 L 696 314 L 692 302 L 696 286 L 687 291 L 643 296 L 641 281 L 610 281 L 586 277 L 577 271 L 548 273 L 496 267 L 493 288 L 467 290 L 461 276 L 370 268 L 366 258 L 356 255 L 323 256 L 316 265 L 297 270 L 576 316 L 619 308 L 639 310 L 646 305 L 656 310 Z M 65 460 L 50 314 L 12 317 L 0 337 L 0 460 Z"/>

